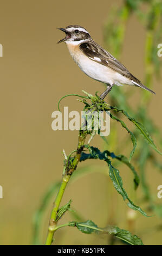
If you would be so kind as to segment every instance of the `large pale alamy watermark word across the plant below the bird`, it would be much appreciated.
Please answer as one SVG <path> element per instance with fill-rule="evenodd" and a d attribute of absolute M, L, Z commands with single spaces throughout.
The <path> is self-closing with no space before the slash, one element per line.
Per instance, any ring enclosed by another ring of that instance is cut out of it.
<path fill-rule="evenodd" d="M 100 136 L 108 136 L 110 132 L 109 111 L 77 111 L 69 112 L 68 107 L 64 107 L 63 114 L 60 111 L 54 111 L 51 115 L 54 118 L 51 127 L 57 130 L 94 130 Z"/>

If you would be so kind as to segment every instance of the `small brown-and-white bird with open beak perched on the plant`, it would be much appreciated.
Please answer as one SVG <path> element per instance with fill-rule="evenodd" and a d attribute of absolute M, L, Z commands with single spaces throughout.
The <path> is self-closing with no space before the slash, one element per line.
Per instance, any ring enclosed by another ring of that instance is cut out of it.
<path fill-rule="evenodd" d="M 66 33 L 66 37 L 60 40 L 58 44 L 60 42 L 66 43 L 70 55 L 79 68 L 87 76 L 107 84 L 107 89 L 100 95 L 102 100 L 111 91 L 114 84 L 117 86 L 123 84 L 137 86 L 154 93 L 134 77 L 119 60 L 96 44 L 85 28 L 72 25 L 58 29 Z"/>

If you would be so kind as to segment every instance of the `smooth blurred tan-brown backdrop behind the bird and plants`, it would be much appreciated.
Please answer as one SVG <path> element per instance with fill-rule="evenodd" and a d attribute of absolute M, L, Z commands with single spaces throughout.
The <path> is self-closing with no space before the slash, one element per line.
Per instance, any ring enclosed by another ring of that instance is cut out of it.
<path fill-rule="evenodd" d="M 81 25 L 86 27 L 98 44 L 105 46 L 103 26 L 111 15 L 112 7 L 118 8 L 122 3 L 119 0 L 102 0 L 100 3 L 92 0 L 0 0 L 0 43 L 3 45 L 3 57 L 0 58 L 0 185 L 3 186 L 4 197 L 0 199 L 1 245 L 32 243 L 34 212 L 40 206 L 44 192 L 62 175 L 62 150 L 69 154 L 76 148 L 77 131 L 51 129 L 51 113 L 57 110 L 57 102 L 61 96 L 69 93 L 82 94 L 82 90 L 86 90 L 95 94 L 105 89 L 103 84 L 80 71 L 69 56 L 66 45 L 56 44 L 63 38 L 56 28 Z M 145 10 L 145 3 L 142 8 Z M 141 81 L 144 81 L 145 72 L 145 37 L 145 27 L 132 14 L 127 22 L 120 60 Z M 161 127 L 161 80 L 154 77 L 152 89 L 157 95 L 151 95 L 146 114 L 152 118 L 155 126 Z M 131 92 L 133 96 L 129 104 L 137 108 L 141 90 L 127 86 L 123 90 Z M 69 106 L 69 111 L 81 111 L 83 108 L 75 97 L 64 99 L 63 105 Z M 127 133 L 120 125 L 117 129 L 120 143 Z M 153 139 L 159 148 L 159 141 L 155 137 Z M 100 149 L 105 147 L 99 136 L 95 137 L 92 145 Z M 115 146 L 111 145 L 111 150 L 114 149 Z M 122 145 L 118 153 L 128 156 L 131 149 L 131 144 L 126 147 Z M 157 159 L 160 161 L 159 156 Z M 93 220 L 99 227 L 115 224 L 120 228 L 132 229 L 145 245 L 162 244 L 162 231 L 156 228 L 161 224 L 161 218 L 156 214 L 146 218 L 137 213 L 132 227 L 127 218 L 129 209 L 126 203 L 114 190 L 109 178 L 97 173 L 98 169 L 107 168 L 104 163 L 89 160 L 80 163 L 81 166 L 93 168 L 94 174 L 70 184 L 62 204 L 72 199 L 73 208 L 82 218 Z M 147 211 L 145 204 L 138 200 L 142 197 L 141 186 L 137 196 L 134 196 L 132 173 L 125 166 L 120 166 L 120 173 L 130 197 Z M 161 204 L 162 199 L 157 198 L 157 187 L 162 185 L 162 179 L 160 172 L 151 164 L 147 166 L 147 183 L 155 202 Z M 52 202 L 43 216 L 40 230 L 42 242 L 46 238 Z M 62 222 L 69 220 L 73 220 L 73 217 L 67 213 Z M 106 245 L 109 242 L 107 235 L 86 235 L 73 228 L 57 231 L 55 238 L 58 245 Z"/>

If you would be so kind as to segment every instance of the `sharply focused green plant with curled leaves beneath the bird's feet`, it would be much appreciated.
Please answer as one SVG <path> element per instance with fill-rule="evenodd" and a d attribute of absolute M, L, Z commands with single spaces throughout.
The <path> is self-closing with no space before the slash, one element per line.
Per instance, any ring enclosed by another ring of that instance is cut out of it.
<path fill-rule="evenodd" d="M 75 95 L 75 94 L 72 94 L 72 95 Z M 66 96 L 70 96 L 70 95 L 66 95 Z M 54 234 L 56 230 L 66 226 L 75 227 L 79 229 L 81 232 L 86 234 L 92 234 L 93 232 L 96 232 L 98 234 L 107 233 L 109 235 L 118 237 L 118 239 L 121 239 L 122 241 L 130 245 L 142 245 L 143 244 L 142 240 L 138 236 L 132 235 L 128 230 L 120 229 L 119 227 L 116 227 L 113 225 L 108 225 L 106 228 L 99 228 L 98 225 L 95 224 L 92 220 L 87 220 L 86 222 L 70 221 L 68 223 L 59 225 L 60 218 L 66 213 L 66 211 L 70 211 L 70 205 L 72 204 L 72 200 L 69 200 L 69 202 L 66 205 L 63 205 L 60 208 L 60 203 L 61 203 L 63 194 L 65 192 L 65 188 L 69 180 L 73 179 L 73 176 L 75 179 L 75 175 L 73 175 L 73 173 L 74 174 L 77 173 L 77 165 L 79 164 L 79 162 L 87 161 L 88 159 L 98 159 L 101 161 L 105 161 L 109 169 L 109 176 L 113 182 L 113 186 L 115 190 L 119 194 L 121 194 L 122 198 L 124 200 L 127 200 L 128 207 L 135 211 L 139 211 L 142 215 L 148 217 L 146 212 L 142 210 L 138 205 L 135 205 L 132 202 L 132 200 L 128 197 L 128 194 L 122 185 L 122 178 L 119 174 L 119 170 L 116 169 L 112 163 L 112 160 L 116 159 L 122 162 L 123 164 L 126 164 L 129 167 L 129 169 L 134 174 L 134 189 L 137 190 L 137 187 L 139 185 L 139 176 L 135 171 L 135 168 L 130 162 L 134 154 L 135 148 L 137 147 L 137 140 L 134 136 L 134 133 L 128 129 L 124 121 L 122 121 L 116 115 L 114 115 L 115 112 L 125 115 L 125 117 L 137 127 L 141 135 L 144 136 L 144 139 L 147 141 L 147 143 L 150 144 L 155 151 L 161 154 L 160 151 L 157 149 L 156 145 L 154 144 L 153 139 L 148 134 L 144 125 L 139 123 L 134 118 L 130 117 L 126 111 L 118 107 L 109 106 L 106 102 L 101 100 L 97 94 L 93 96 L 91 94 L 86 93 L 86 96 L 80 96 L 80 95 L 76 95 L 76 96 L 79 96 L 82 98 L 82 100 L 80 101 L 85 105 L 83 111 L 86 111 L 86 112 L 91 111 L 92 116 L 94 111 L 95 112 L 109 111 L 109 115 L 111 119 L 118 121 L 121 124 L 121 126 L 127 130 L 129 136 L 131 137 L 133 149 L 130 153 L 129 159 L 124 155 L 115 155 L 113 152 L 110 152 L 108 150 L 101 152 L 99 148 L 90 146 L 90 141 L 96 134 L 96 131 L 93 129 L 94 127 L 93 119 L 92 119 L 92 130 L 89 130 L 88 127 L 86 127 L 85 130 L 80 129 L 77 148 L 74 151 L 72 151 L 68 156 L 64 154 L 65 159 L 64 159 L 64 167 L 63 167 L 61 184 L 59 182 L 58 184 L 55 184 L 53 188 L 51 188 L 51 190 L 48 192 L 48 194 L 43 200 L 43 204 L 40 211 L 38 211 L 35 216 L 35 219 L 37 220 L 37 225 L 35 225 L 35 235 L 38 233 L 38 223 L 39 223 L 38 220 L 40 220 L 42 211 L 44 210 L 44 207 L 46 206 L 49 197 L 51 196 L 51 194 L 54 193 L 54 191 L 58 190 L 57 196 L 54 202 L 54 207 L 53 207 L 53 210 L 51 211 L 51 216 L 49 220 L 46 245 L 51 245 L 51 243 L 53 242 Z M 64 97 L 62 97 L 62 99 Z M 87 124 L 88 124 L 88 120 L 86 125 Z M 100 130 L 98 131 L 98 133 L 100 133 Z M 87 137 L 89 136 L 90 136 L 90 139 L 88 143 L 86 143 Z M 104 139 L 106 140 L 106 138 Z"/>

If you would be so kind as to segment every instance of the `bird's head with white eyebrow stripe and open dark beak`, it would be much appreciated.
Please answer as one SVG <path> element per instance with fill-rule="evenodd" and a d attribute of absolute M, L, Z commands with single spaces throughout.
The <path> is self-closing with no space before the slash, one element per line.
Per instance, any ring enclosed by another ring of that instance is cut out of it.
<path fill-rule="evenodd" d="M 66 28 L 58 28 L 58 29 L 66 33 L 66 37 L 60 40 L 59 42 L 57 42 L 57 44 L 59 44 L 60 42 L 66 42 L 66 43 L 72 42 L 72 41 L 79 42 L 81 40 L 84 41 L 90 38 L 88 31 L 86 31 L 86 29 L 81 26 L 72 25 Z"/>

